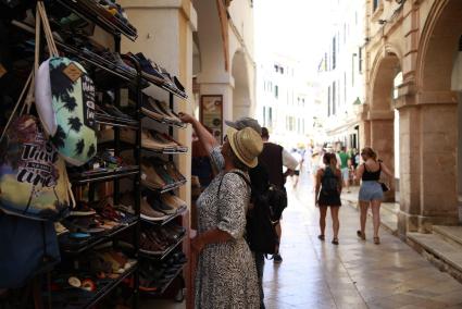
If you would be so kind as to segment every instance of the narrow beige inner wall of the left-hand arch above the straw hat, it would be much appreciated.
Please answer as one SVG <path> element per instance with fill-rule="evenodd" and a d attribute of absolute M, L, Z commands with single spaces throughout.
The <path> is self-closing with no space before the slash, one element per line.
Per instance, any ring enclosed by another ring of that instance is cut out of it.
<path fill-rule="evenodd" d="M 236 51 L 233 57 L 233 118 L 249 116 L 251 112 L 251 91 L 248 65 L 244 51 Z"/>

